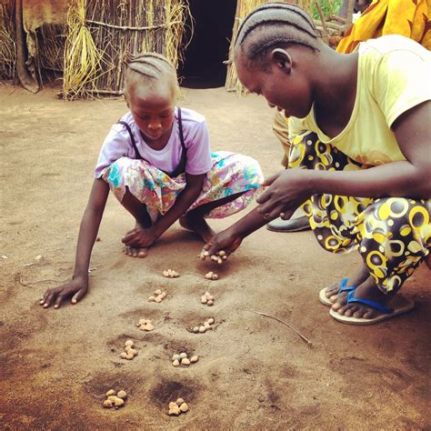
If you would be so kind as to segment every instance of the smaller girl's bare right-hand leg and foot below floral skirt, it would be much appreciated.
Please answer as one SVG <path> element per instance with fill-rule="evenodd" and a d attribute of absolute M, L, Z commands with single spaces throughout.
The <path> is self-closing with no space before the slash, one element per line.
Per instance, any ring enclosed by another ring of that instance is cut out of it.
<path fill-rule="evenodd" d="M 185 229 L 195 232 L 195 234 L 200 236 L 205 241 L 205 243 L 207 243 L 213 236 L 216 235 L 216 232 L 206 223 L 204 218 L 205 214 L 208 214 L 218 206 L 226 205 L 229 202 L 235 201 L 237 197 L 243 195 L 244 193 L 245 192 L 236 193 L 235 195 L 226 196 L 222 199 L 200 205 L 187 213 L 185 216 L 180 217 L 179 223 Z"/>

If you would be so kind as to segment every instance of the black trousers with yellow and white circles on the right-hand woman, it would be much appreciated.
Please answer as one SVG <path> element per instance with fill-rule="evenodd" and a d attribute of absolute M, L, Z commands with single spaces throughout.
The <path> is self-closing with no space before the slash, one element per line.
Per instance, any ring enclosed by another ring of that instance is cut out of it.
<path fill-rule="evenodd" d="M 289 167 L 366 169 L 311 132 L 293 140 Z M 398 290 L 431 247 L 430 199 L 313 195 L 303 208 L 320 246 L 340 254 L 358 250 L 384 293 Z"/>

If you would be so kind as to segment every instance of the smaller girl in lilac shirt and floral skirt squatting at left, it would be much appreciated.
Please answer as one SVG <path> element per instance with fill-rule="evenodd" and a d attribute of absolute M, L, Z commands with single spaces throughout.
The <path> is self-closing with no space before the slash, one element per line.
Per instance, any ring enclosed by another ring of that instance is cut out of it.
<path fill-rule="evenodd" d="M 128 256 L 147 248 L 179 220 L 205 241 L 214 235 L 205 218 L 223 218 L 248 205 L 263 180 L 256 160 L 211 153 L 205 118 L 175 107 L 174 67 L 162 55 L 136 56 L 125 75 L 125 114 L 105 138 L 81 222 L 73 279 L 46 290 L 40 304 L 72 304 L 88 290 L 88 266 L 109 189 L 135 217 L 123 236 Z"/>

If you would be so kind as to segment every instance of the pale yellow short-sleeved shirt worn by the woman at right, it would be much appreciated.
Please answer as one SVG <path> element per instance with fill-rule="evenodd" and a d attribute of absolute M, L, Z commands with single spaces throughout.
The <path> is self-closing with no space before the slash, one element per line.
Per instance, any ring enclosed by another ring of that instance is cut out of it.
<path fill-rule="evenodd" d="M 289 136 L 315 132 L 356 162 L 383 165 L 405 160 L 390 127 L 396 118 L 431 100 L 431 53 L 411 39 L 386 35 L 359 45 L 356 102 L 346 128 L 334 138 L 306 118 L 289 118 Z"/>

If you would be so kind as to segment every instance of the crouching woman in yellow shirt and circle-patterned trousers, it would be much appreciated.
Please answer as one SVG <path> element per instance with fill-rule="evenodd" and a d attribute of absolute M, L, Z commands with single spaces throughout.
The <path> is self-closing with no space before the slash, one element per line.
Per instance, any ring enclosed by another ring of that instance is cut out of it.
<path fill-rule="evenodd" d="M 302 9 L 276 3 L 246 17 L 235 63 L 250 92 L 291 117 L 289 168 L 266 180 L 261 205 L 205 249 L 232 253 L 303 205 L 321 246 L 355 249 L 364 261 L 321 292 L 331 316 L 370 324 L 410 310 L 412 301 L 393 297 L 431 246 L 430 53 L 386 35 L 339 54 Z"/>

